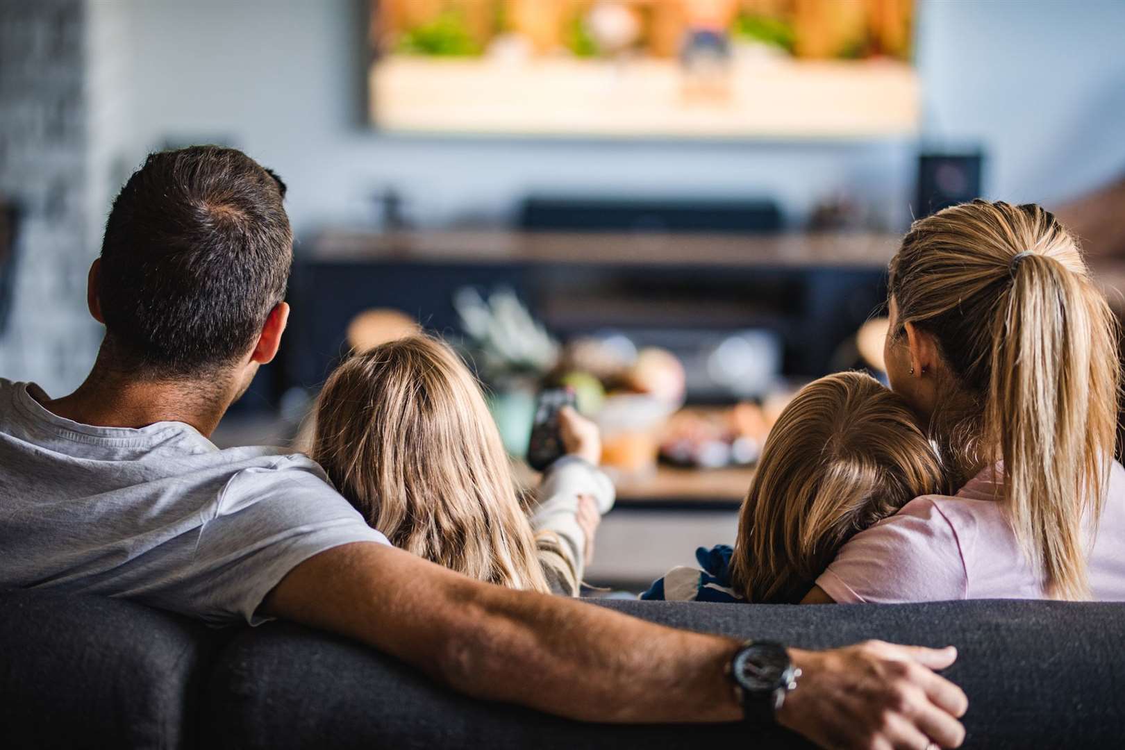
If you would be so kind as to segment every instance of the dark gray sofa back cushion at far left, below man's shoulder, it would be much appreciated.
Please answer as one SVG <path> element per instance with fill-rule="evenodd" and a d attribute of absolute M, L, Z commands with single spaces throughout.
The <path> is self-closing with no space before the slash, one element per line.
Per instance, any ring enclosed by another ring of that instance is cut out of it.
<path fill-rule="evenodd" d="M 224 636 L 125 602 L 0 594 L 0 747 L 194 747 L 196 701 Z"/>

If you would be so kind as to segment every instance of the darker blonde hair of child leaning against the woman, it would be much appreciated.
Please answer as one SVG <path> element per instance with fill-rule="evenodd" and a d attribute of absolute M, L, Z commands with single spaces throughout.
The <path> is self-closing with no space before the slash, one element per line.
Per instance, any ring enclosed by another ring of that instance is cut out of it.
<path fill-rule="evenodd" d="M 739 514 L 731 581 L 749 602 L 800 602 L 853 534 L 944 488 L 900 396 L 858 372 L 821 378 L 770 431 Z"/>

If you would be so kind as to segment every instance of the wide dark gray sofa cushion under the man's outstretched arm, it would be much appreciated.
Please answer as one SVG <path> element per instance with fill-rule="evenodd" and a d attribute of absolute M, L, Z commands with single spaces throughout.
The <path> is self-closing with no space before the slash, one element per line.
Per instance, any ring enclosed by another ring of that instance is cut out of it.
<path fill-rule="evenodd" d="M 825 648 L 870 638 L 961 650 L 975 747 L 1102 747 L 1125 735 L 1125 604 L 963 602 L 780 606 L 614 602 L 646 620 Z M 800 688 L 798 688 L 800 689 Z M 738 725 L 591 726 L 476 702 L 344 639 L 273 623 L 241 633 L 213 675 L 215 747 L 699 747 Z M 755 747 L 800 744 L 783 731 Z"/>

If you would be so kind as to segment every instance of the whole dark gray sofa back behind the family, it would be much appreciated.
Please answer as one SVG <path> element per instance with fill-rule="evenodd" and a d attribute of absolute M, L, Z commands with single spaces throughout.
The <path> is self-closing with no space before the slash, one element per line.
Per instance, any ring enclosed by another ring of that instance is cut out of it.
<path fill-rule="evenodd" d="M 953 643 L 969 747 L 1125 746 L 1125 604 L 606 604 L 646 620 L 820 648 Z M 130 602 L 0 594 L 0 748 L 803 747 L 737 724 L 609 726 L 454 695 L 288 623 L 213 631 Z"/>

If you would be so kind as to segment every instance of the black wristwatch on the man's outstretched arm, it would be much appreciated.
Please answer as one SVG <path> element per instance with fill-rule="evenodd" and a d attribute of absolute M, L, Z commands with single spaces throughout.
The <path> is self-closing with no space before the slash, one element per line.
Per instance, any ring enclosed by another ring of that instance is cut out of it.
<path fill-rule="evenodd" d="M 744 720 L 760 725 L 774 723 L 785 696 L 796 689 L 801 670 L 781 643 L 747 641 L 727 665 L 727 676 L 735 684 Z"/>

